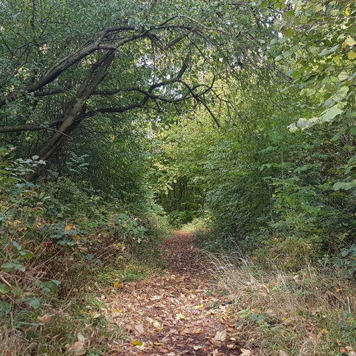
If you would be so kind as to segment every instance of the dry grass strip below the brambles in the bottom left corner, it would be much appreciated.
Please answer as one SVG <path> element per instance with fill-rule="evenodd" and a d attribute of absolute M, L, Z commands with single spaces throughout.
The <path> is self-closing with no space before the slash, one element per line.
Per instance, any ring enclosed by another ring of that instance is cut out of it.
<path fill-rule="evenodd" d="M 92 298 L 93 300 L 95 298 Z M 68 305 L 68 309 L 47 310 L 51 320 L 38 323 L 35 314 L 26 314 L 26 326 L 23 319 L 15 318 L 3 321 L 0 325 L 0 355 L 5 356 L 60 356 L 66 353 L 67 346 L 83 341 L 83 350 L 90 355 L 101 355 L 109 343 L 115 343 L 126 337 L 124 325 L 108 323 L 106 318 L 93 318 L 86 309 L 82 311 Z M 89 305 L 87 305 L 88 307 Z M 96 308 L 97 307 L 97 308 Z M 91 302 L 92 310 L 99 310 L 99 304 Z M 95 312 L 94 312 L 95 314 Z M 69 354 L 68 354 L 69 355 Z"/>

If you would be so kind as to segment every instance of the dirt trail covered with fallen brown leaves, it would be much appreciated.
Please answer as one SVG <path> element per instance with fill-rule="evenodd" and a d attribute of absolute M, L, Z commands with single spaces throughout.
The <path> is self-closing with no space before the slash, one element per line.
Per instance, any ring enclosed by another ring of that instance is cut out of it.
<path fill-rule="evenodd" d="M 229 296 L 212 284 L 193 242 L 190 232 L 175 232 L 163 247 L 166 273 L 125 284 L 118 292 L 108 321 L 128 327 L 131 339 L 111 344 L 107 355 L 241 354 Z"/>

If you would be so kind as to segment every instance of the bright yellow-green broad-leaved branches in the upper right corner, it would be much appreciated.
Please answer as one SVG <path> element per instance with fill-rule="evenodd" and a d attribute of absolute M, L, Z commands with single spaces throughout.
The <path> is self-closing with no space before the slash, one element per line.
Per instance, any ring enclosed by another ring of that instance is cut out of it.
<path fill-rule="evenodd" d="M 291 131 L 321 125 L 334 131 L 333 139 L 341 140 L 347 156 L 355 150 L 356 133 L 355 18 L 353 1 L 291 1 L 280 19 L 283 37 L 273 40 L 285 46 L 276 60 L 292 63 L 289 74 L 312 104 L 312 115 L 291 124 Z M 335 189 L 356 186 L 354 162 L 351 156 L 343 163 L 347 182 L 336 183 Z"/>

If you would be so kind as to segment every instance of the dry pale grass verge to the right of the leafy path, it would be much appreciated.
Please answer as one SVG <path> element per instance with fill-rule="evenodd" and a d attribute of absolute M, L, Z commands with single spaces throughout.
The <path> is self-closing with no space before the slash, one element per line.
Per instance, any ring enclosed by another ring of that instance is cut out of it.
<path fill-rule="evenodd" d="M 339 270 L 307 264 L 292 275 L 242 257 L 211 259 L 234 300 L 236 334 L 253 355 L 341 356 L 356 348 L 355 284 Z"/>

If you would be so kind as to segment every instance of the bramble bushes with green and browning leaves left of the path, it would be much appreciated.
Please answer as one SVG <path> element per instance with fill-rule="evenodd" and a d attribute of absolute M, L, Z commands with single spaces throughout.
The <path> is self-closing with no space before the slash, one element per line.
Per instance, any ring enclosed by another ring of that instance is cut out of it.
<path fill-rule="evenodd" d="M 152 229 L 158 229 L 160 220 L 156 217 L 158 224 L 152 226 L 149 219 L 156 212 L 148 209 L 149 202 L 138 217 L 122 207 L 119 200 L 104 200 L 100 191 L 88 186 L 88 181 L 56 177 L 55 182 L 29 183 L 26 175 L 43 162 L 35 156 L 25 161 L 15 159 L 12 148 L 1 148 L 0 152 L 2 314 L 8 314 L 13 305 L 39 309 L 45 300 L 53 298 L 51 295 L 63 293 L 72 284 L 72 273 L 79 266 L 90 270 L 118 264 L 136 245 L 152 243 L 156 236 Z M 70 161 L 72 179 L 81 170 L 86 172 L 82 159 L 85 157 L 76 160 L 79 164 L 72 165 L 74 158 Z M 52 255 L 58 254 L 63 257 L 56 264 Z M 47 260 L 51 268 L 33 276 L 34 266 L 42 266 L 41 261 Z"/>

